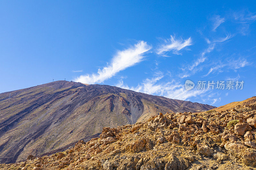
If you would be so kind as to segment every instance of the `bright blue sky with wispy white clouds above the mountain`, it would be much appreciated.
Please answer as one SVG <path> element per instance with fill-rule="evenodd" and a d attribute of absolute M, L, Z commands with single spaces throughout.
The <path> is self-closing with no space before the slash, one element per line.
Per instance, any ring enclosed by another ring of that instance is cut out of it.
<path fill-rule="evenodd" d="M 255 1 L 1 1 L 0 22 L 0 92 L 66 78 L 213 106 L 256 95 Z M 196 88 L 228 80 L 243 89 Z"/>

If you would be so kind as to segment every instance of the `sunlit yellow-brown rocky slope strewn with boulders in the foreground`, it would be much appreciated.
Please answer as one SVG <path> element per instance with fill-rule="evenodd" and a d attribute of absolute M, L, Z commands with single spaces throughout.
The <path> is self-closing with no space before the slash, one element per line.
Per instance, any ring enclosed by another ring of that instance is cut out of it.
<path fill-rule="evenodd" d="M 2 169 L 255 169 L 256 105 L 226 111 L 166 113 L 79 141 L 51 156 L 1 164 Z"/>

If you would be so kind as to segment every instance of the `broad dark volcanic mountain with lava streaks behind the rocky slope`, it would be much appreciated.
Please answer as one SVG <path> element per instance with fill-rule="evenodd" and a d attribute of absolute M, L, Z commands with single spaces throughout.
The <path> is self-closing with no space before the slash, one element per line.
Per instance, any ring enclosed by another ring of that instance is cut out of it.
<path fill-rule="evenodd" d="M 213 106 L 109 85 L 56 81 L 0 94 L 0 163 L 48 155 L 98 137 L 103 127 Z"/>

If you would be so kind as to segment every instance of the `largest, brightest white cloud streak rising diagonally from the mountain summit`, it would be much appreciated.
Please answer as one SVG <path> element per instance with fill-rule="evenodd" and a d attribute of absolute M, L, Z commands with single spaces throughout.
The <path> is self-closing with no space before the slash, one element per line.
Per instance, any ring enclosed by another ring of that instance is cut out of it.
<path fill-rule="evenodd" d="M 117 51 L 111 63 L 103 69 L 99 69 L 97 73 L 81 75 L 74 81 L 86 84 L 102 83 L 104 80 L 115 76 L 119 71 L 140 63 L 145 57 L 143 54 L 150 49 L 151 46 L 147 42 L 140 41 L 131 48 Z"/>

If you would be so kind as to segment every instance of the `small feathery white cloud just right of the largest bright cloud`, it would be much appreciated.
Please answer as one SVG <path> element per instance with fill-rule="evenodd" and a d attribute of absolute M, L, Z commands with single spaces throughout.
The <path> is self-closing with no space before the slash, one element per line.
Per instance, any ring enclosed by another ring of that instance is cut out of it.
<path fill-rule="evenodd" d="M 172 51 L 173 54 L 181 54 L 181 49 L 191 45 L 193 45 L 191 37 L 183 40 L 182 38 L 176 39 L 175 36 L 171 35 L 170 39 L 164 40 L 164 43 L 159 48 L 157 48 L 156 54 L 165 57 L 169 57 L 166 53 L 170 51 Z"/>

